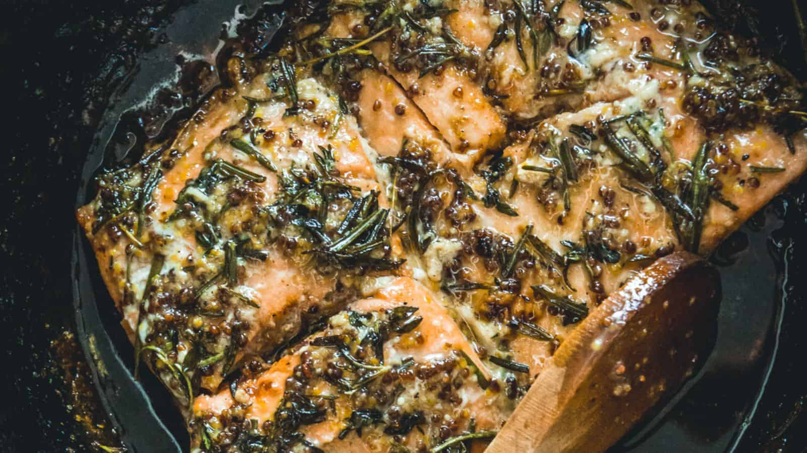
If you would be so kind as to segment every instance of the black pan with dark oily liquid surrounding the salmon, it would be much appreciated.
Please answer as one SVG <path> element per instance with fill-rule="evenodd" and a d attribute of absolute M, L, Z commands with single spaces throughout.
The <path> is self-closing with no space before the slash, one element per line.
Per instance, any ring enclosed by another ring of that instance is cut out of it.
<path fill-rule="evenodd" d="M 711 6 L 726 23 L 759 32 L 767 52 L 805 81 L 791 1 Z M 144 393 L 131 380 L 131 347 L 114 328 L 73 210 L 91 195 L 94 168 L 192 111 L 204 91 L 194 80 L 215 84 L 215 71 L 178 52 L 211 52 L 221 24 L 260 3 L 0 0 L 0 452 L 94 451 L 94 440 L 115 445 L 111 428 L 132 451 L 186 445 L 160 386 L 144 376 Z M 154 102 L 123 114 L 172 74 L 178 81 Z M 805 191 L 803 178 L 713 257 L 725 289 L 715 355 L 675 404 L 614 451 L 805 451 Z M 65 332 L 93 348 L 89 366 L 78 347 L 53 343 Z M 96 408 L 96 434 L 76 420 L 70 393 L 82 388 L 100 395 L 78 401 Z"/>

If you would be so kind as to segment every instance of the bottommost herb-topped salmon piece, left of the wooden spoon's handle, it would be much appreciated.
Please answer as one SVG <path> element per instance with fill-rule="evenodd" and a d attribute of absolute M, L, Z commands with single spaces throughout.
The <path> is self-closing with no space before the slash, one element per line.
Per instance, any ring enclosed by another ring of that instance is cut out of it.
<path fill-rule="evenodd" d="M 245 419 L 264 426 L 271 433 L 266 445 L 278 450 L 300 443 L 378 451 L 390 449 L 391 442 L 417 449 L 439 437 L 439 430 L 500 427 L 506 413 L 490 403 L 506 397 L 486 393 L 486 378 L 479 374 L 484 365 L 445 308 L 410 278 L 383 278 L 382 288 L 329 318 L 324 330 L 266 372 L 232 390 L 198 397 L 194 443 L 225 436 L 226 443 L 242 443 L 252 435 L 239 427 Z M 367 341 L 387 330 L 383 342 Z M 440 424 L 427 422 L 435 419 Z M 290 435 L 295 432 L 304 437 Z"/>

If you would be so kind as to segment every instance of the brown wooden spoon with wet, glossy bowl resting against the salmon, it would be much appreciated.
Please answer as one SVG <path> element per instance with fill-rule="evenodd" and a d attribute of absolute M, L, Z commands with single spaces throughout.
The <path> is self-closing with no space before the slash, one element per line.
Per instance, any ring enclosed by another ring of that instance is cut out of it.
<path fill-rule="evenodd" d="M 611 447 L 709 354 L 720 293 L 717 270 L 688 252 L 638 272 L 564 339 L 487 452 Z"/>

